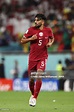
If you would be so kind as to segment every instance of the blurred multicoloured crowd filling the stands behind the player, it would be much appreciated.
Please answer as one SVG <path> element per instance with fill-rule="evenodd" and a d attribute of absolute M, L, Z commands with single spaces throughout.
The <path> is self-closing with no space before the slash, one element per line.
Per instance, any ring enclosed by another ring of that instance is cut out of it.
<path fill-rule="evenodd" d="M 74 51 L 74 0 L 0 0 L 0 51 L 29 52 L 21 45 L 34 16 L 44 13 L 53 29 L 55 42 L 48 51 Z"/>

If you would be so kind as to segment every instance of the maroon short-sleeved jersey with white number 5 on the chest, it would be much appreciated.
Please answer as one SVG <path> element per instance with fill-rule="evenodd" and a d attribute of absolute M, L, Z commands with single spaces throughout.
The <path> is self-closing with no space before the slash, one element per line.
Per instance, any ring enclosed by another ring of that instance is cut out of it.
<path fill-rule="evenodd" d="M 24 36 L 29 38 L 37 34 L 37 39 L 30 43 L 30 54 L 29 60 L 37 61 L 48 57 L 46 44 L 49 38 L 53 36 L 51 28 L 44 27 L 43 30 L 37 29 L 36 27 L 30 27 Z"/>

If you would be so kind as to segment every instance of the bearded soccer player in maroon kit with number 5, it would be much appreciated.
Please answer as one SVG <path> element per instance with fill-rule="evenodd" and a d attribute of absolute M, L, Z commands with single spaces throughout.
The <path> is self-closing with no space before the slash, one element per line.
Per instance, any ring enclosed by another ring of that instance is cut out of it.
<path fill-rule="evenodd" d="M 41 73 L 46 68 L 46 60 L 48 58 L 47 48 L 54 42 L 54 36 L 51 28 L 45 26 L 46 17 L 44 14 L 35 16 L 35 26 L 30 27 L 21 39 L 21 44 L 30 42 L 30 53 L 28 63 L 28 73 L 37 71 Z M 39 74 L 38 74 L 39 75 Z M 42 85 L 41 78 L 34 80 L 30 78 L 29 88 L 32 93 L 29 105 L 35 106 L 40 88 Z"/>

